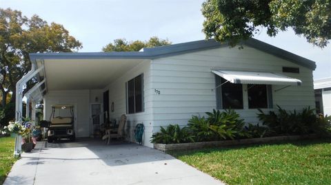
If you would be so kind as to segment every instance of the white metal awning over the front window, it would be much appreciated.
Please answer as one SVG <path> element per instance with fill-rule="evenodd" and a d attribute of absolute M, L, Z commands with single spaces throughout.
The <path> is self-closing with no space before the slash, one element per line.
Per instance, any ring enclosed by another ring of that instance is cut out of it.
<path fill-rule="evenodd" d="M 238 72 L 212 70 L 230 83 L 265 84 L 265 85 L 301 85 L 301 80 L 272 72 Z"/>

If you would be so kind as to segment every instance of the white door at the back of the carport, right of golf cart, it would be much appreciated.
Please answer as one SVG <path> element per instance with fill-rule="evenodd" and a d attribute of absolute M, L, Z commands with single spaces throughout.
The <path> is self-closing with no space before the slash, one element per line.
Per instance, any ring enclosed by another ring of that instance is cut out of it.
<path fill-rule="evenodd" d="M 99 135 L 100 124 L 102 119 L 101 114 L 101 103 L 93 103 L 91 104 L 91 135 Z"/>

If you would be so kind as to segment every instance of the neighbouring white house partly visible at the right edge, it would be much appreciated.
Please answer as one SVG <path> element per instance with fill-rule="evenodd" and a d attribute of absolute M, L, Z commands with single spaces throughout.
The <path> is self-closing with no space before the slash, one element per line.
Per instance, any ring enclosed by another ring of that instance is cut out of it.
<path fill-rule="evenodd" d="M 314 80 L 317 113 L 331 115 L 331 78 Z"/>

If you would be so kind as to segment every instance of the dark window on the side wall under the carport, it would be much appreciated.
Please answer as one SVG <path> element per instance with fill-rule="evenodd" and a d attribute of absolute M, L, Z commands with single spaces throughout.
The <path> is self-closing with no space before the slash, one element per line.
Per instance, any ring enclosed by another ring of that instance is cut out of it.
<path fill-rule="evenodd" d="M 143 111 L 143 74 L 126 83 L 127 111 L 138 113 Z"/>

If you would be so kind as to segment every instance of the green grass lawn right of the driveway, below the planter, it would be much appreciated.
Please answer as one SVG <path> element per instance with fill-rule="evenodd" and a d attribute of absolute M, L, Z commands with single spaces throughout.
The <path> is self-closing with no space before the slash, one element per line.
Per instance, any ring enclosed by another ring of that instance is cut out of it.
<path fill-rule="evenodd" d="M 331 184 L 331 139 L 172 155 L 226 184 Z"/>

